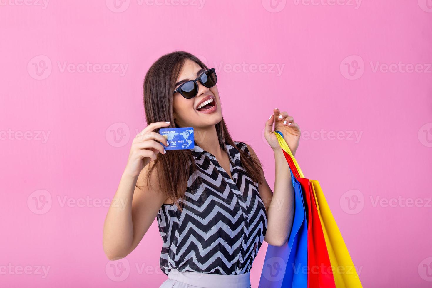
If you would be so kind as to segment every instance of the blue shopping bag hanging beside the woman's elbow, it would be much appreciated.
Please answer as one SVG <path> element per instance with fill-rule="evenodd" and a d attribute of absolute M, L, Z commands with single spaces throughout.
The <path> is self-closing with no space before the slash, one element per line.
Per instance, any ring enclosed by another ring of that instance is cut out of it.
<path fill-rule="evenodd" d="M 302 190 L 292 172 L 295 211 L 288 241 L 281 247 L 268 245 L 259 288 L 307 288 L 308 229 Z"/>

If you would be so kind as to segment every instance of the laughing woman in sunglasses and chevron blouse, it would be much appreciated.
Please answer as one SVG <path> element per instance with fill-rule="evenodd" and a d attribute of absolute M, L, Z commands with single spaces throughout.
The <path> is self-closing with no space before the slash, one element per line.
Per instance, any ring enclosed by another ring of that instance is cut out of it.
<path fill-rule="evenodd" d="M 127 207 L 111 205 L 105 219 L 110 260 L 132 252 L 158 219 L 160 267 L 168 275 L 160 287 L 250 287 L 262 242 L 282 246 L 291 230 L 291 176 L 272 128 L 295 153 L 299 126 L 279 109 L 265 123 L 276 165 L 272 192 L 251 146 L 232 140 L 216 82 L 214 69 L 184 51 L 150 67 L 143 89 L 147 127 L 133 139 L 114 195 Z M 168 142 L 157 133 L 167 127 L 194 127 L 194 149 L 167 153 Z"/>

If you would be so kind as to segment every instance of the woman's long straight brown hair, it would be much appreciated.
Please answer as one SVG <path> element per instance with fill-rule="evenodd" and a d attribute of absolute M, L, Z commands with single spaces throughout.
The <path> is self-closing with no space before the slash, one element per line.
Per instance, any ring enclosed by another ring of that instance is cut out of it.
<path fill-rule="evenodd" d="M 170 125 L 164 128 L 179 127 L 175 123 L 173 116 L 172 98 L 178 75 L 187 59 L 196 62 L 204 70 L 208 69 L 208 67 L 194 55 L 184 51 L 174 51 L 160 57 L 147 71 L 143 84 L 144 111 L 146 113 L 147 125 L 153 122 L 170 121 Z M 156 129 L 155 132 L 159 133 L 159 129 Z M 223 117 L 222 120 L 216 124 L 216 133 L 219 138 L 219 145 L 224 151 L 227 152 L 225 145 L 223 145 L 224 141 L 236 147 Z M 260 174 L 260 168 L 262 166 L 260 161 L 256 161 L 240 149 L 239 152 L 241 165 L 245 168 L 248 175 L 254 182 L 258 184 L 262 183 L 263 179 Z M 197 171 L 191 151 L 188 149 L 170 150 L 165 155 L 158 153 L 154 165 L 152 165 L 148 175 L 146 175 L 147 181 L 149 181 L 149 175 L 155 168 L 158 172 L 159 187 L 161 187 L 167 196 L 171 199 L 175 199 L 175 204 L 181 210 L 184 193 L 187 190 L 189 175 Z M 179 202 L 181 202 L 180 205 Z"/>

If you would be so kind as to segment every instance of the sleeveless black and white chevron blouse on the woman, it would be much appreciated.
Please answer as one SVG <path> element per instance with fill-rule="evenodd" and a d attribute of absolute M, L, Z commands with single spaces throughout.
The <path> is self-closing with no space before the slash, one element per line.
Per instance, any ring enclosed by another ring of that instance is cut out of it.
<path fill-rule="evenodd" d="M 197 164 L 189 176 L 183 211 L 163 204 L 157 220 L 163 245 L 160 267 L 181 272 L 237 275 L 250 271 L 267 230 L 267 214 L 254 183 L 241 165 L 244 142 L 227 143 L 231 179 L 216 157 L 195 142 Z M 190 165 L 191 163 L 189 163 Z M 202 184 L 194 185 L 198 177 Z M 197 187 L 198 186 L 198 187 Z"/>

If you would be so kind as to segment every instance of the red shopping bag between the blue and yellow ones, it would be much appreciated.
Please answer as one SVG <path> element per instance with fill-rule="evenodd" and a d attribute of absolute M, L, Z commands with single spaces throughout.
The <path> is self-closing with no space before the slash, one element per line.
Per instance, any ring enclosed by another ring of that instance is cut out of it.
<path fill-rule="evenodd" d="M 297 177 L 297 180 L 302 186 L 302 191 L 305 194 L 306 200 L 305 206 L 308 207 L 308 287 L 335 288 L 333 269 L 327 252 L 327 244 L 325 242 L 311 183 L 309 179 L 304 177 L 298 164 L 295 165 L 295 158 L 281 136 L 282 133 L 276 131 L 275 134 L 291 170 L 294 171 L 293 174 Z"/>

